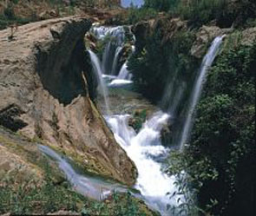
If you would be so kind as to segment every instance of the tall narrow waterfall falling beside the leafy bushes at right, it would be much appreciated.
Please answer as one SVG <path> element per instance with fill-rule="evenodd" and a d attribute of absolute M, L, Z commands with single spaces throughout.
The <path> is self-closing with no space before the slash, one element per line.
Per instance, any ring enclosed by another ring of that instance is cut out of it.
<path fill-rule="evenodd" d="M 195 82 L 194 82 L 194 88 L 191 94 L 191 98 L 188 105 L 188 112 L 186 116 L 186 121 L 184 123 L 184 126 L 182 128 L 181 133 L 181 141 L 180 141 L 180 149 L 182 150 L 186 144 L 186 141 L 188 139 L 188 135 L 190 133 L 191 127 L 192 127 L 192 121 L 194 116 L 194 109 L 200 99 L 200 93 L 203 87 L 203 84 L 205 82 L 205 77 L 207 75 L 207 70 L 211 67 L 213 64 L 213 61 L 215 57 L 218 55 L 218 51 L 220 48 L 220 45 L 222 43 L 222 39 L 224 36 L 217 36 L 211 45 L 211 47 L 207 51 L 207 55 L 204 57 L 200 70 L 199 75 L 197 76 Z"/>

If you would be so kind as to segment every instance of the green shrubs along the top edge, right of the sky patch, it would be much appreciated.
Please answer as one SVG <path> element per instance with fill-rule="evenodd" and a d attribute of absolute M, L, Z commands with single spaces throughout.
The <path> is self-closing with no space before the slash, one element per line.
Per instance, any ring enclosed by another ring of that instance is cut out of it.
<path fill-rule="evenodd" d="M 128 23 L 156 17 L 159 12 L 167 16 L 181 17 L 193 27 L 214 21 L 220 27 L 243 25 L 246 20 L 256 17 L 254 0 L 241 0 L 235 4 L 231 0 L 145 0 L 140 8 L 131 8 Z"/>

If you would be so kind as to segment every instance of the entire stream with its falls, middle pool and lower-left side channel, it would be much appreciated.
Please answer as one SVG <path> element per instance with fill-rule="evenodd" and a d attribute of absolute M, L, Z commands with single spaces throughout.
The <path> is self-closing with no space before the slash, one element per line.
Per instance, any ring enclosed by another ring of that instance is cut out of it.
<path fill-rule="evenodd" d="M 109 40 L 102 53 L 102 61 L 98 56 L 89 50 L 89 56 L 95 76 L 98 80 L 98 107 L 108 123 L 108 127 L 115 135 L 115 140 L 126 151 L 128 157 L 135 162 L 138 170 L 138 178 L 134 188 L 140 191 L 142 200 L 148 206 L 161 213 L 161 215 L 173 215 L 168 206 L 179 206 L 184 199 L 182 195 L 174 195 L 177 192 L 174 176 L 168 176 L 165 172 L 164 160 L 167 159 L 170 147 L 161 143 L 161 130 L 167 126 L 168 121 L 174 115 L 174 109 L 180 102 L 183 94 L 182 89 L 173 94 L 173 82 L 167 86 L 165 95 L 162 95 L 164 103 L 168 104 L 166 112 L 155 107 L 147 99 L 133 90 L 132 75 L 128 71 L 126 60 L 122 66 L 120 62 L 121 51 L 124 49 L 126 32 L 123 27 L 93 27 L 91 32 L 98 40 L 104 40 L 106 36 L 114 37 L 116 40 Z M 133 36 L 135 40 L 135 36 Z M 224 36 L 214 39 L 207 55 L 201 63 L 198 75 L 194 81 L 194 90 L 190 95 L 187 118 L 181 128 L 181 137 L 175 143 L 178 148 L 183 149 L 189 138 L 189 132 L 193 126 L 194 109 L 200 99 L 200 92 L 213 60 L 218 55 L 220 45 Z M 135 48 L 132 47 L 130 55 Z M 175 76 L 175 75 L 174 75 Z M 174 77 L 175 78 L 175 77 Z M 172 79 L 174 81 L 174 78 Z M 129 118 L 136 109 L 147 109 L 149 115 L 142 124 L 139 131 L 129 126 Z M 104 180 L 95 180 L 93 177 L 76 173 L 70 166 L 68 160 L 49 149 L 40 146 L 43 153 L 48 154 L 59 163 L 59 167 L 67 175 L 68 180 L 75 186 L 76 191 L 86 196 L 99 200 L 102 196 L 102 187 L 112 190 L 126 192 L 128 188 Z M 136 195 L 135 195 L 136 196 Z"/>

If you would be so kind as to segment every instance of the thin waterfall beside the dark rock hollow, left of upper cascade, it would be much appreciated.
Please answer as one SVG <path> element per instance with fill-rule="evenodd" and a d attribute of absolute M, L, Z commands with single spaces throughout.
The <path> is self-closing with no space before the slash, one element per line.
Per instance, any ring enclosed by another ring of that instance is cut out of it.
<path fill-rule="evenodd" d="M 101 69 L 101 62 L 98 59 L 98 57 L 95 55 L 95 53 L 91 50 L 89 50 L 89 56 L 93 65 L 93 69 L 95 71 L 95 75 L 97 76 L 97 80 L 99 82 L 100 85 L 100 89 L 102 92 L 102 96 L 104 98 L 104 103 L 106 106 L 106 111 L 109 114 L 109 105 L 108 105 L 108 88 L 106 87 L 103 79 L 102 79 L 102 69 Z"/>

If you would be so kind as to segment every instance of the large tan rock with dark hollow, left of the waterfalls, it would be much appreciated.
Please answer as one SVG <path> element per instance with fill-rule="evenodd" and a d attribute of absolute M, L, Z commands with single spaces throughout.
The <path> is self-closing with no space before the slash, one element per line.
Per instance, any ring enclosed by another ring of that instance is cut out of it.
<path fill-rule="evenodd" d="M 88 171 L 135 182 L 135 166 L 89 98 L 83 38 L 73 16 L 0 31 L 0 125 L 40 138 Z"/>

